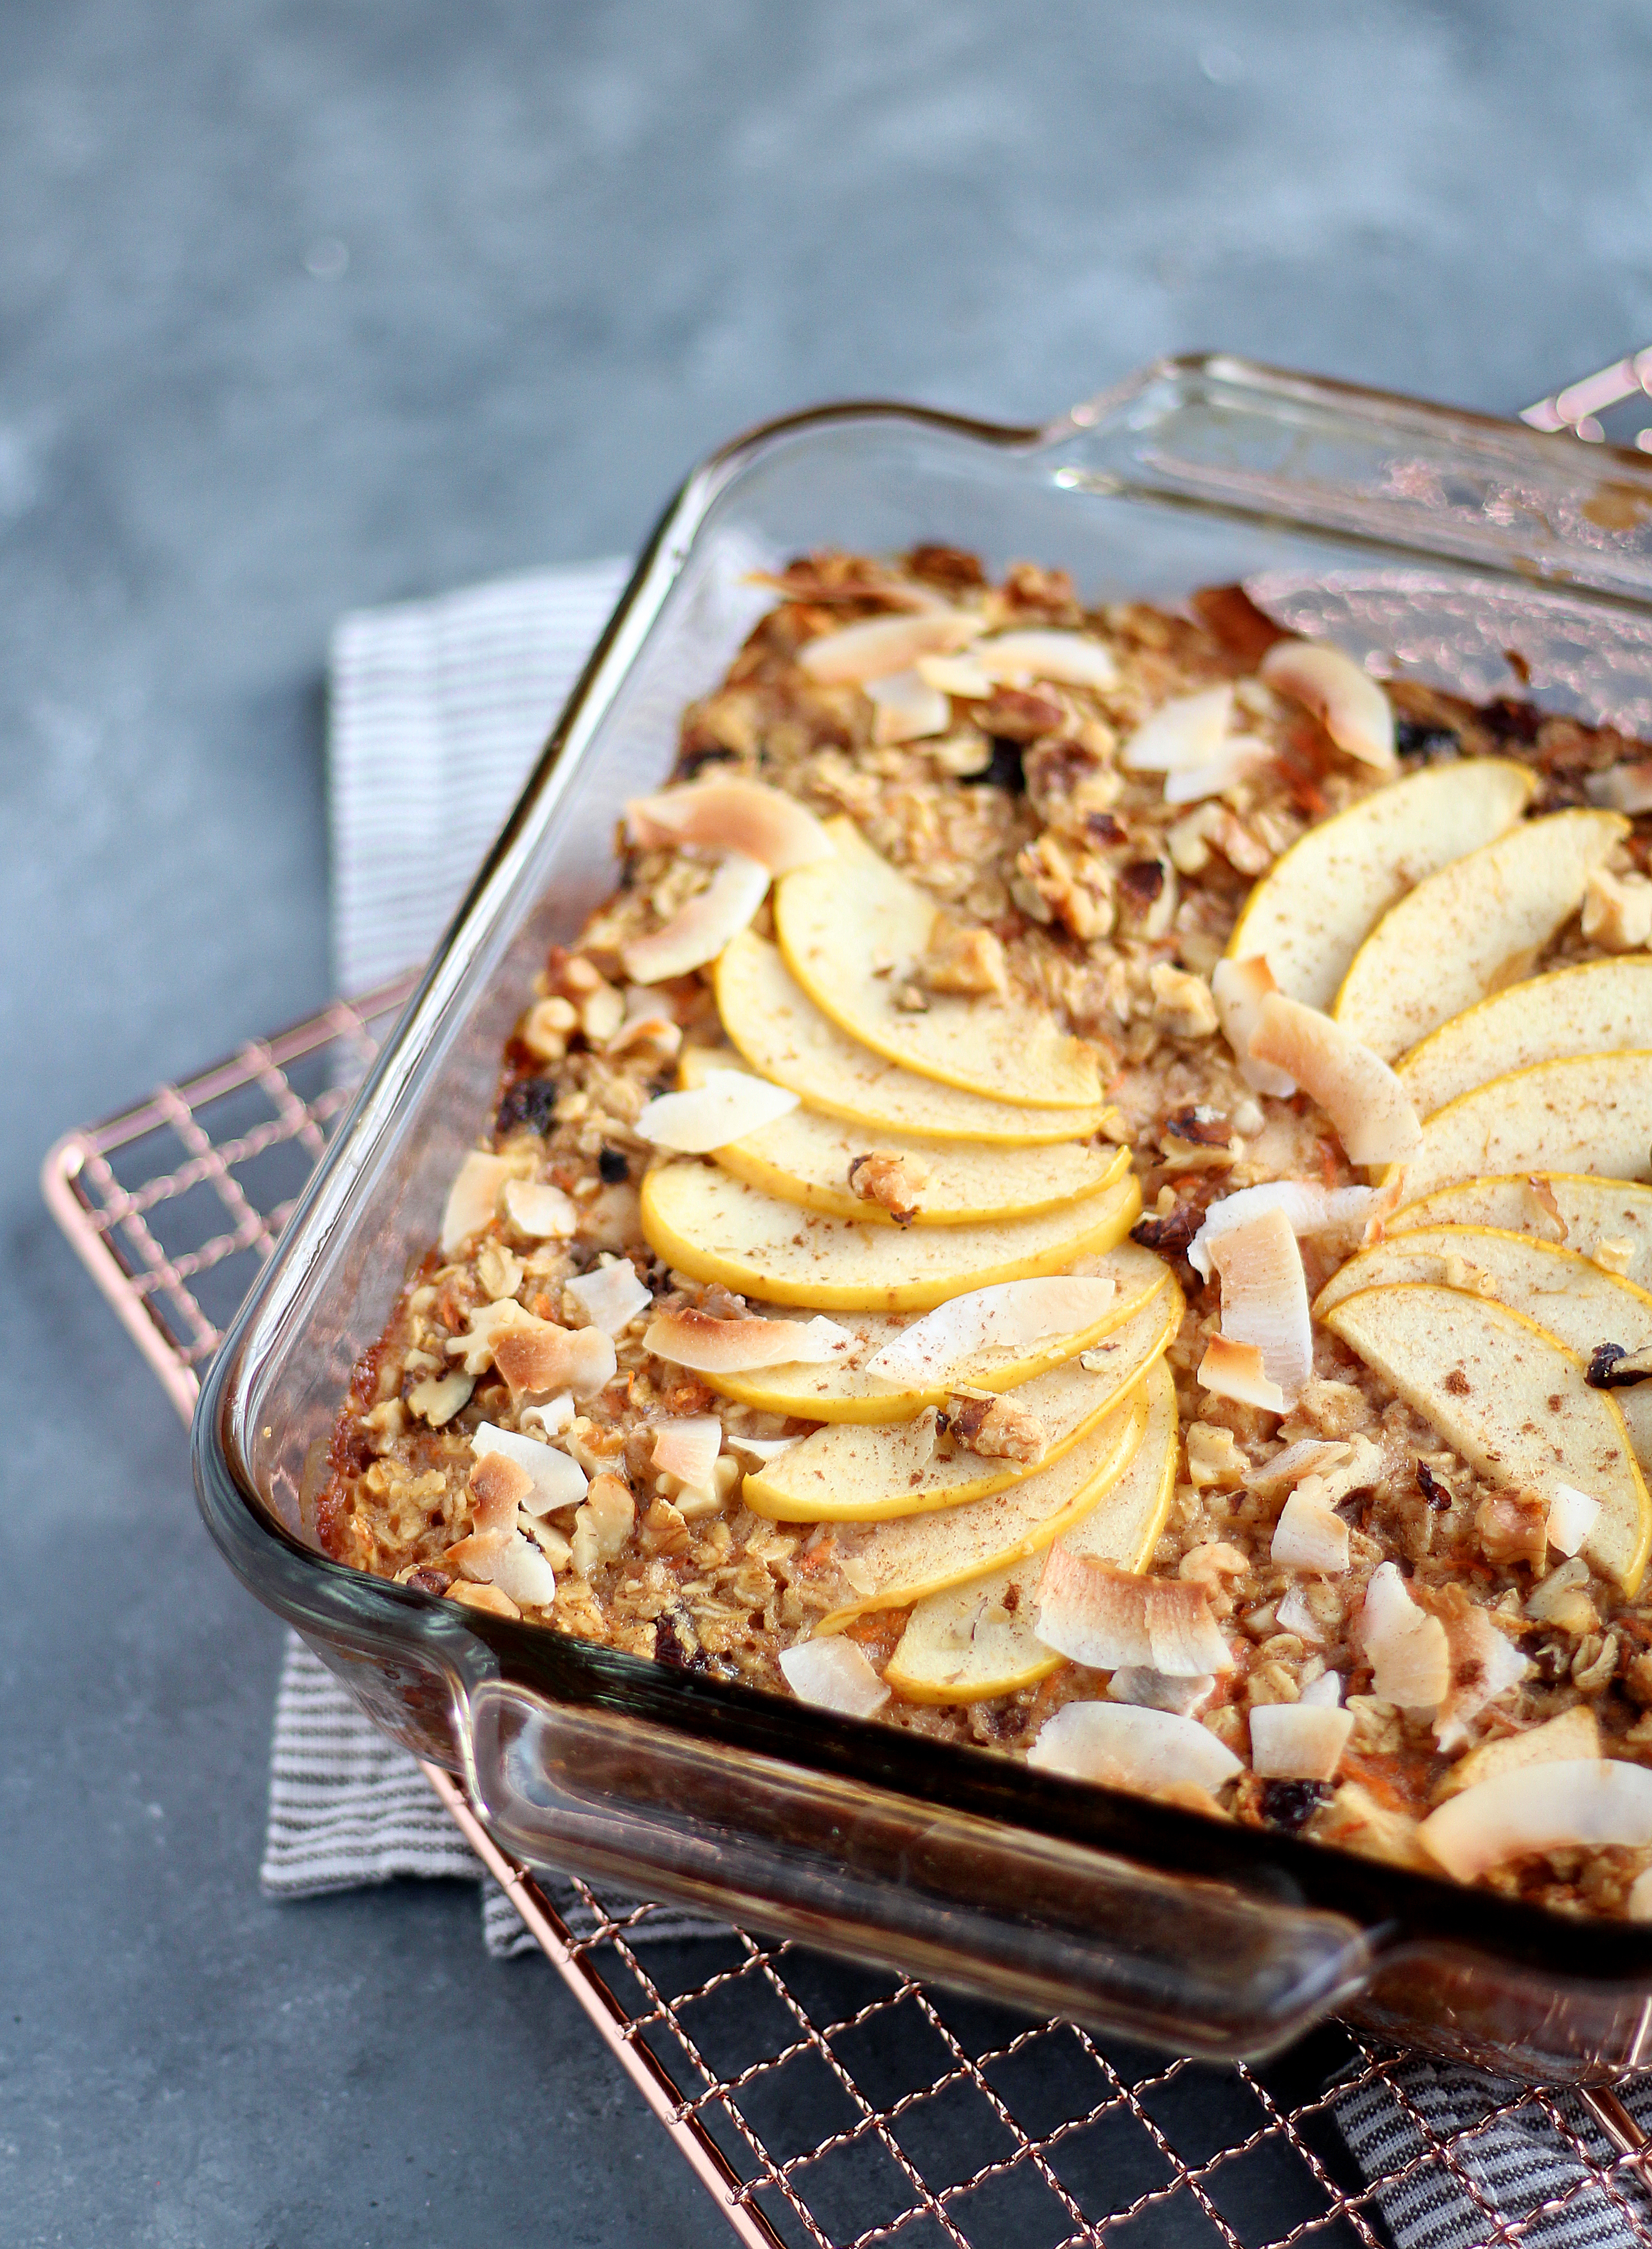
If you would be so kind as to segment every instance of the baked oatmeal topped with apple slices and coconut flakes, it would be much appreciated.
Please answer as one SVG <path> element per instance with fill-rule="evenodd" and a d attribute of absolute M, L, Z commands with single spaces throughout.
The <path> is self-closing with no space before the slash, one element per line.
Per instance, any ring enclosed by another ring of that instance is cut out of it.
<path fill-rule="evenodd" d="M 1652 1916 L 1652 753 L 1236 587 L 773 591 L 524 994 L 326 1552 Z"/>

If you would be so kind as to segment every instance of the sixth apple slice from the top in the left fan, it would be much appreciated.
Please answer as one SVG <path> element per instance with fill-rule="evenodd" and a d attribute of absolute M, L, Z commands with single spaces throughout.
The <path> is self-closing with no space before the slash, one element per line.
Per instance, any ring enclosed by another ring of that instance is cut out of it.
<path fill-rule="evenodd" d="M 1011 1403 L 1036 1415 L 1047 1437 L 1047 1451 L 1032 1464 L 964 1446 L 937 1451 L 928 1415 L 897 1426 L 838 1421 L 748 1475 L 746 1507 L 771 1523 L 881 1523 L 1007 1491 L 1043 1473 L 1110 1415 L 1164 1356 L 1180 1325 L 1182 1291 L 1171 1282 L 1079 1358 L 1011 1390 Z"/>

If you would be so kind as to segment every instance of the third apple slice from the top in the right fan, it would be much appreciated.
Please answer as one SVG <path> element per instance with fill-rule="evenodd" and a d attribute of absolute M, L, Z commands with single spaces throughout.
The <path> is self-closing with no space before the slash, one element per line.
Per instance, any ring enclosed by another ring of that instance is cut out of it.
<path fill-rule="evenodd" d="M 1416 1113 L 1429 1118 L 1488 1077 L 1567 1055 L 1609 1055 L 1618 1046 L 1652 1048 L 1648 954 L 1580 960 L 1508 985 L 1441 1023 L 1394 1068 Z"/>

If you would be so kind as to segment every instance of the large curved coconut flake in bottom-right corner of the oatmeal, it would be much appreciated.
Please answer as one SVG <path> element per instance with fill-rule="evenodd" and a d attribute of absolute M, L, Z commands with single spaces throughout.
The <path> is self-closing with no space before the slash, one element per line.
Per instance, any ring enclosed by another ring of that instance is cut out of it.
<path fill-rule="evenodd" d="M 1535 1851 L 1652 1844 L 1652 1770 L 1614 1759 L 1555 1759 L 1542 1788 L 1517 1768 L 1463 1788 L 1427 1815 L 1423 1846 L 1459 1882 Z"/>

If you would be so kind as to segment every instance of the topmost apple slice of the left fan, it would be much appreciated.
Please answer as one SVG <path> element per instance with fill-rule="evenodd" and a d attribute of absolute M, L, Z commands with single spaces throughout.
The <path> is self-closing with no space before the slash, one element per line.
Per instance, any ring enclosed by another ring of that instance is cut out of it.
<path fill-rule="evenodd" d="M 922 1077 L 1032 1109 L 1101 1098 L 1095 1048 L 1029 1001 L 917 994 L 935 897 L 879 857 L 854 821 L 827 821 L 836 857 L 775 884 L 775 936 L 787 967 L 832 1021 L 874 1055 Z"/>

